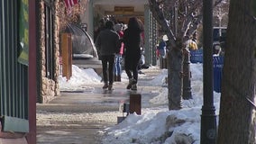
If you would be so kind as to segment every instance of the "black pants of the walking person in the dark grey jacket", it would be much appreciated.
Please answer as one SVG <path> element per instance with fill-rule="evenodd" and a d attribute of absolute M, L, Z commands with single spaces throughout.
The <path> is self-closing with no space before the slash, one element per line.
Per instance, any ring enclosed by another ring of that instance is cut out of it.
<path fill-rule="evenodd" d="M 103 81 L 113 85 L 114 55 L 101 56 Z M 108 74 L 107 74 L 108 73 Z"/>

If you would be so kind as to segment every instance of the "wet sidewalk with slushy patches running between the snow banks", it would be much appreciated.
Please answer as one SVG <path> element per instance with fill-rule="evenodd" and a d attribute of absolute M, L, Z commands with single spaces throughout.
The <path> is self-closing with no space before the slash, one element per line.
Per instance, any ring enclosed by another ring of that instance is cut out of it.
<path fill-rule="evenodd" d="M 138 94 L 142 94 L 142 108 L 150 107 L 149 100 L 156 96 L 160 87 L 147 87 L 143 83 L 156 76 L 160 69 L 143 71 L 147 76 L 139 76 Z M 78 93 L 61 93 L 50 103 L 37 104 L 38 144 L 98 144 L 103 130 L 117 124 L 121 102 L 129 102 L 134 93 L 126 90 L 126 82 L 115 82 L 113 91 L 102 90 L 101 85 Z M 125 114 L 125 113 L 124 113 Z"/>

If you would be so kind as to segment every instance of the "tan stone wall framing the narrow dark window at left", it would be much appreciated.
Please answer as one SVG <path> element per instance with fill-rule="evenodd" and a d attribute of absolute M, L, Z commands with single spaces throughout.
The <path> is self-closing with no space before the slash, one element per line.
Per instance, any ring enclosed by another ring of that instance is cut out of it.
<path fill-rule="evenodd" d="M 58 3 L 56 0 L 52 12 L 55 16 L 53 17 L 53 49 L 54 49 L 54 59 L 55 59 L 55 72 L 54 78 L 50 79 L 46 77 L 46 56 L 45 56 L 45 4 L 42 0 L 40 3 L 40 57 L 41 57 L 41 89 L 40 89 L 40 100 L 41 103 L 48 103 L 50 100 L 58 96 L 59 93 L 59 17 L 58 17 Z"/>

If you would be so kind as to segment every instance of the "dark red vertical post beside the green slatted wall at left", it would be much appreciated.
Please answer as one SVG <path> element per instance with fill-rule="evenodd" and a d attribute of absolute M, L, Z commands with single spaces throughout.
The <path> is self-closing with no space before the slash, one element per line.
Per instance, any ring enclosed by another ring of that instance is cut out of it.
<path fill-rule="evenodd" d="M 3 1 L 2 1 L 3 2 Z M 28 144 L 36 143 L 36 102 L 37 96 L 39 95 L 37 91 L 37 83 L 38 83 L 38 73 L 37 71 L 37 47 L 39 46 L 39 34 L 38 24 L 37 24 L 37 16 L 39 15 L 39 11 L 37 10 L 38 1 L 29 0 L 29 82 L 28 82 L 28 117 L 29 117 L 29 133 L 26 135 L 26 139 Z M 2 21 L 2 20 L 1 20 Z M 3 48 L 1 48 L 3 49 Z M 10 108 L 9 111 L 11 111 Z M 0 142 L 2 143 L 2 142 Z M 5 142 L 4 142 L 5 143 Z M 7 142 L 6 142 L 7 143 Z M 10 141 L 11 143 L 11 141 Z M 18 142 L 17 142 L 18 143 Z"/>

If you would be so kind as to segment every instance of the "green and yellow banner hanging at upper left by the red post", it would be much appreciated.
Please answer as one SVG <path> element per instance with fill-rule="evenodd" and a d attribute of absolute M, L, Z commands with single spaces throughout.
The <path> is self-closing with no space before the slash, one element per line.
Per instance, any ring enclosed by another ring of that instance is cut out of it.
<path fill-rule="evenodd" d="M 29 65 L 29 0 L 21 0 L 19 13 L 19 41 L 21 54 L 18 61 Z"/>

